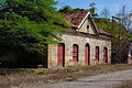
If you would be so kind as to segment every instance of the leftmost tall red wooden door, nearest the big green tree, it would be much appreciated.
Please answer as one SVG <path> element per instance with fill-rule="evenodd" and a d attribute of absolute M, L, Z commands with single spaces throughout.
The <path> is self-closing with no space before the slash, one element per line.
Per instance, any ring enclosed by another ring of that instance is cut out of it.
<path fill-rule="evenodd" d="M 65 46 L 64 44 L 59 44 L 57 54 L 57 65 L 64 66 L 64 62 L 65 62 Z"/>

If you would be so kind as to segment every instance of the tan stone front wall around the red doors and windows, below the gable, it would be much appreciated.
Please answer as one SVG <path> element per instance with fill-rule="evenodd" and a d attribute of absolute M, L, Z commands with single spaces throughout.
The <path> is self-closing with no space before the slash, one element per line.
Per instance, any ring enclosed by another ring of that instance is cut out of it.
<path fill-rule="evenodd" d="M 85 47 L 90 46 L 90 65 L 103 64 L 103 51 L 108 48 L 108 63 L 111 63 L 111 41 L 85 37 L 73 34 L 62 34 L 65 44 L 65 66 L 86 65 Z M 73 45 L 78 45 L 78 62 L 73 62 Z M 99 46 L 99 61 L 96 61 L 96 46 Z M 57 67 L 57 47 L 58 45 L 48 45 L 48 68 Z"/>

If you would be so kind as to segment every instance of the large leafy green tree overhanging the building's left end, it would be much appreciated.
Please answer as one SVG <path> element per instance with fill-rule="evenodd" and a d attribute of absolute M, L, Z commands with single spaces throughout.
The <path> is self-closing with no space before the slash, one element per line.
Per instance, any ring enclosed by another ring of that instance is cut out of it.
<path fill-rule="evenodd" d="M 7 0 L 0 10 L 0 46 L 44 52 L 46 44 L 61 41 L 56 36 L 68 26 L 56 12 L 54 0 Z"/>

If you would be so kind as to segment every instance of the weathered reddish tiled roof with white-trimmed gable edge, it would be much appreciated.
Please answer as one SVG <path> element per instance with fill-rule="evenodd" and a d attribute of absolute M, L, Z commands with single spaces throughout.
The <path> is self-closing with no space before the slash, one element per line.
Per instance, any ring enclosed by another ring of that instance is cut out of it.
<path fill-rule="evenodd" d="M 79 12 L 75 12 L 75 13 L 70 13 L 70 14 L 66 14 L 66 22 L 74 29 L 79 29 L 82 24 L 82 22 L 90 16 L 91 19 L 91 14 L 89 13 L 89 10 L 82 10 Z M 94 22 L 94 20 L 91 19 L 91 22 L 97 31 L 98 34 L 101 35 L 107 35 L 107 36 L 112 36 L 112 34 L 105 32 L 101 29 L 98 29 Z"/>

